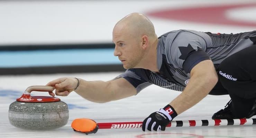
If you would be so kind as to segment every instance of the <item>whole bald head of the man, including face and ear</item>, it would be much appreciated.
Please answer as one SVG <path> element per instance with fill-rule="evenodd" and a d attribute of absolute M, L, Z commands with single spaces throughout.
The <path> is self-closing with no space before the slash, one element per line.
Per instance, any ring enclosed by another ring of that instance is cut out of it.
<path fill-rule="evenodd" d="M 147 68 L 148 59 L 156 57 L 158 38 L 152 22 L 141 13 L 131 13 L 113 29 L 114 55 L 124 68 Z"/>

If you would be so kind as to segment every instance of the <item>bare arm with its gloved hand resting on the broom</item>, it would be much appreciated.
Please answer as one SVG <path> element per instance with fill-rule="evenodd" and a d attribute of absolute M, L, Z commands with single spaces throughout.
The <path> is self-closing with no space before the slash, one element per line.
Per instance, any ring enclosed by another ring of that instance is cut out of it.
<path fill-rule="evenodd" d="M 188 110 L 201 101 L 216 85 L 218 76 L 211 60 L 204 60 L 195 65 L 190 72 L 190 81 L 183 92 L 169 105 L 149 115 L 142 125 L 142 130 L 165 130 L 166 125 L 175 116 Z"/>

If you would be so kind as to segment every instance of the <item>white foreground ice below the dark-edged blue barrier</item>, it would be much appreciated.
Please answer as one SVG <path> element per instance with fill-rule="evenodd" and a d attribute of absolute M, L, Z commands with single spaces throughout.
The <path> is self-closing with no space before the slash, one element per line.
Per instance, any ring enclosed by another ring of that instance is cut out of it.
<path fill-rule="evenodd" d="M 149 86 L 138 95 L 107 103 L 93 103 L 75 92 L 60 97 L 69 106 L 69 120 L 64 127 L 48 131 L 23 130 L 13 127 L 8 120 L 10 103 L 20 97 L 31 85 L 45 85 L 59 77 L 79 77 L 86 80 L 110 80 L 121 72 L 74 73 L 56 75 L 0 76 L 0 137 L 2 138 L 255 138 L 256 127 L 247 126 L 204 126 L 167 127 L 165 131 L 143 132 L 141 128 L 99 129 L 97 133 L 84 135 L 71 128 L 75 118 L 90 118 L 96 122 L 143 121 L 149 114 L 159 110 L 180 92 Z M 48 96 L 48 92 L 33 92 L 32 95 Z M 194 107 L 183 112 L 174 120 L 211 119 L 214 112 L 224 108 L 228 96 L 207 96 Z"/>

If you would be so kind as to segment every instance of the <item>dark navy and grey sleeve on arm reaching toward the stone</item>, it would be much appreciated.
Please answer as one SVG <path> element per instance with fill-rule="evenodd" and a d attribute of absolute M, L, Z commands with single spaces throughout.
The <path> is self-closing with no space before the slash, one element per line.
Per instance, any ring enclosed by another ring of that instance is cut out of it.
<path fill-rule="evenodd" d="M 144 69 L 128 69 L 118 77 L 122 77 L 129 81 L 137 90 L 137 94 L 152 83 L 148 82 Z"/>

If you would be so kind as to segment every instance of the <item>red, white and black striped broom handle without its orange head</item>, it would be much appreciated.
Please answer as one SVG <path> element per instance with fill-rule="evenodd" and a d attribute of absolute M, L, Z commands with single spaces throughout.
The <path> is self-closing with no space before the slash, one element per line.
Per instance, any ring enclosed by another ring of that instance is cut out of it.
<path fill-rule="evenodd" d="M 98 123 L 99 129 L 141 128 L 143 122 L 106 122 Z M 166 127 L 195 127 L 195 126 L 228 126 L 228 125 L 255 125 L 256 118 L 252 119 L 215 119 L 215 120 L 185 120 L 171 121 Z"/>

